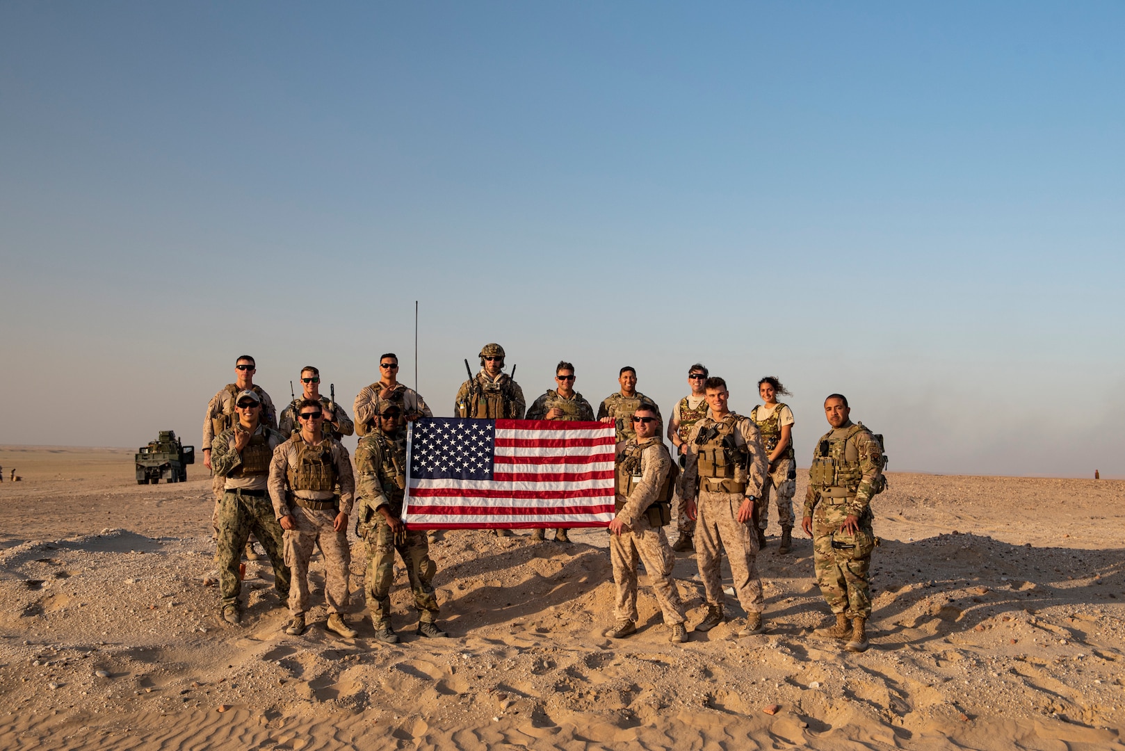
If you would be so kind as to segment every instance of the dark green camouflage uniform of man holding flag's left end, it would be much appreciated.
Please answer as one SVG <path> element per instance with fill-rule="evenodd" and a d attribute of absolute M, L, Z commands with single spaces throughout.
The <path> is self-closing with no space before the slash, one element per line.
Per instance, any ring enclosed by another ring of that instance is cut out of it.
<path fill-rule="evenodd" d="M 390 624 L 390 584 L 394 581 L 395 551 L 406 565 L 414 592 L 418 619 L 438 619 L 438 597 L 431 581 L 438 566 L 430 558 L 425 531 L 407 529 L 397 539 L 390 531 L 381 507 L 399 517 L 406 488 L 406 431 L 392 435 L 372 430 L 356 448 L 359 475 L 359 524 L 357 533 L 367 543 L 367 607 L 376 631 Z"/>

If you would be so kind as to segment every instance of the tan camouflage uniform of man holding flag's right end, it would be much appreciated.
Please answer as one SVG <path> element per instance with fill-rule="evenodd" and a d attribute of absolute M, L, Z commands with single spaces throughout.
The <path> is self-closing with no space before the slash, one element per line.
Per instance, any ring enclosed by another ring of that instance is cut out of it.
<path fill-rule="evenodd" d="M 684 606 L 680 591 L 672 579 L 672 566 L 676 560 L 664 535 L 658 510 L 654 502 L 670 498 L 669 473 L 672 455 L 659 438 L 646 438 L 642 442 L 630 438 L 618 444 L 616 466 L 616 518 L 626 525 L 621 535 L 610 535 L 610 560 L 613 563 L 613 581 L 618 587 L 615 616 L 618 620 L 636 622 L 637 616 L 637 562 L 645 562 L 645 571 L 656 593 L 656 601 L 664 613 L 668 626 L 684 623 Z M 665 507 L 667 508 L 667 507 Z"/>

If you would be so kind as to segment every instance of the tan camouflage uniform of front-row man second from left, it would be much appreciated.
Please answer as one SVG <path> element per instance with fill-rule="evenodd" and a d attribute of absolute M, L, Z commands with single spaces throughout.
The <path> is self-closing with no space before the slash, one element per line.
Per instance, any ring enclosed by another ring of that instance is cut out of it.
<path fill-rule="evenodd" d="M 339 484 L 340 495 L 335 494 Z M 348 529 L 336 531 L 336 513 L 351 513 L 356 481 L 348 449 L 326 438 L 318 446 L 300 433 L 278 446 L 270 462 L 270 498 L 278 519 L 292 517 L 296 529 L 286 529 L 285 562 L 292 571 L 289 613 L 308 611 L 308 561 L 313 548 L 324 554 L 324 599 L 328 614 L 342 614 L 349 602 L 348 566 L 351 548 Z"/>

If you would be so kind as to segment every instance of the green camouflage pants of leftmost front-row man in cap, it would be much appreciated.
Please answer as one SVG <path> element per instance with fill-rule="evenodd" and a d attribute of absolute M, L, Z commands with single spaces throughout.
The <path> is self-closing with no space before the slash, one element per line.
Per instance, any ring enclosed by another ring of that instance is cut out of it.
<path fill-rule="evenodd" d="M 273 503 L 269 498 L 226 491 L 218 502 L 216 529 L 218 540 L 215 544 L 215 564 L 218 566 L 218 589 L 223 607 L 237 604 L 238 592 L 242 590 L 238 562 L 251 531 L 258 535 L 266 555 L 273 564 L 273 588 L 277 589 L 278 597 L 289 597 L 289 566 L 281 552 L 281 525 L 273 516 Z"/>

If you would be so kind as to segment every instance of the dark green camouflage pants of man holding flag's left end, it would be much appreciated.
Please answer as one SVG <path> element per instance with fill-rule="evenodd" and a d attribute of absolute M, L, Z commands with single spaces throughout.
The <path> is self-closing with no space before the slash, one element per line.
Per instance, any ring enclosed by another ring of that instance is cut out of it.
<path fill-rule="evenodd" d="M 390 584 L 395 574 L 395 551 L 406 566 L 406 575 L 414 592 L 414 607 L 418 620 L 438 619 L 438 596 L 434 594 L 433 575 L 438 566 L 430 558 L 430 544 L 424 530 L 407 530 L 395 542 L 390 525 L 376 511 L 367 530 L 367 607 L 375 624 L 390 623 Z"/>

